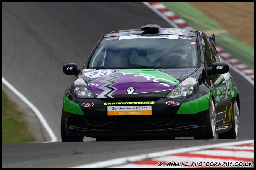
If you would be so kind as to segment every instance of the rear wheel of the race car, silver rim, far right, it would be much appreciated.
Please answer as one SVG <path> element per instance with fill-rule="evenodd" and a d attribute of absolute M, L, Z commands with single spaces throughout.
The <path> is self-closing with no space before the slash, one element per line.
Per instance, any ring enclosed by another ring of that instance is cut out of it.
<path fill-rule="evenodd" d="M 232 127 L 229 131 L 218 134 L 218 139 L 238 139 L 239 136 L 239 107 L 237 100 L 233 102 Z"/>

